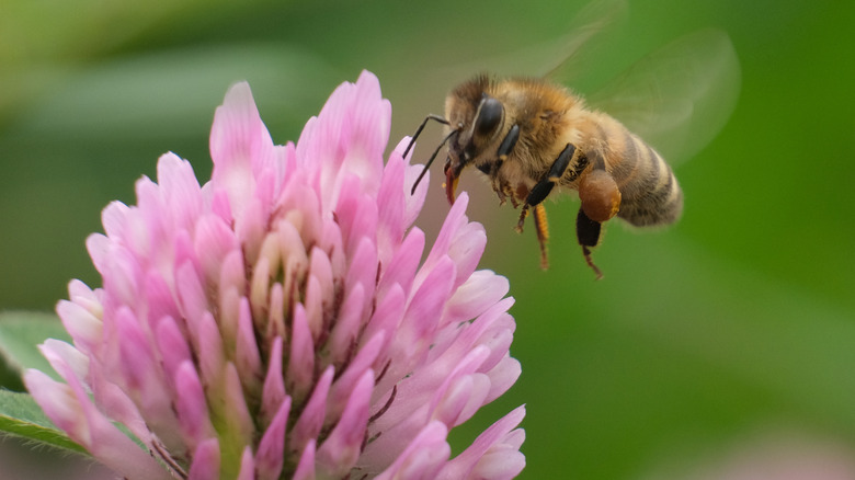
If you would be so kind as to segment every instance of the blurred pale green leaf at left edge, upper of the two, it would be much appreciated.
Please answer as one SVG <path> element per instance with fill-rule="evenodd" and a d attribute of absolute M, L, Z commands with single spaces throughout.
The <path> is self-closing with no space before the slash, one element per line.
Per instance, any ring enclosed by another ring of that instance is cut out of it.
<path fill-rule="evenodd" d="M 46 339 L 71 341 L 55 313 L 36 311 L 0 313 L 0 357 L 19 377 L 25 369 L 36 368 L 54 379 L 59 379 L 37 347 Z"/>

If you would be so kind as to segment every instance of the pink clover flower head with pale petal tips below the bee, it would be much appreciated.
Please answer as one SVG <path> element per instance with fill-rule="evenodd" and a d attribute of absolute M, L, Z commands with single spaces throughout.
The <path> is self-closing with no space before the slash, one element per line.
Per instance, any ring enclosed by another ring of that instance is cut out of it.
<path fill-rule="evenodd" d="M 520 375 L 508 281 L 476 271 L 465 194 L 424 255 L 390 118 L 364 72 L 278 146 L 233 85 L 210 181 L 167 153 L 87 240 L 103 286 L 72 281 L 73 345 L 42 345 L 65 382 L 25 375 L 47 415 L 127 479 L 515 477 L 522 407 L 447 443 Z"/>

